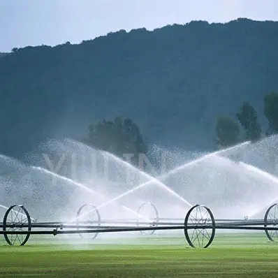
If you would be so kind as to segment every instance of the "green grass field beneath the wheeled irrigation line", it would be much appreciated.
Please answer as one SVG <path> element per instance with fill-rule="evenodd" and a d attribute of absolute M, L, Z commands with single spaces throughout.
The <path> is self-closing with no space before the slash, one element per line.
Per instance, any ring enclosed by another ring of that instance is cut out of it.
<path fill-rule="evenodd" d="M 94 243 L 94 244 L 93 244 Z M 208 249 L 184 237 L 69 244 L 63 235 L 0 247 L 1 277 L 278 277 L 278 244 L 264 233 L 217 234 Z"/>

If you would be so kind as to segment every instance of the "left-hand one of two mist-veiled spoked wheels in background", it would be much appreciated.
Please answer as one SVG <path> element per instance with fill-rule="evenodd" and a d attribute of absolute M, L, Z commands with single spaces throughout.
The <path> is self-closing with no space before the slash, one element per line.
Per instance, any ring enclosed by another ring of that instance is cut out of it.
<path fill-rule="evenodd" d="M 96 226 L 99 228 L 101 226 L 101 214 L 98 212 L 96 206 L 91 204 L 85 204 L 80 207 L 77 213 L 77 224 L 80 226 Z M 80 230 L 80 237 L 85 238 L 85 234 L 82 234 L 82 229 Z M 84 230 L 84 228 L 83 228 Z M 86 233 L 87 238 L 94 240 L 98 233 Z"/>

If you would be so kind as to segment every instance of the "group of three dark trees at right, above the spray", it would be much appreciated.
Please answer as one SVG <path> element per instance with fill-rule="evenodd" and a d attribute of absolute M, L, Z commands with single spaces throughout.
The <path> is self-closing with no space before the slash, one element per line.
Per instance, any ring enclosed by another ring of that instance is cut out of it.
<path fill-rule="evenodd" d="M 242 140 L 256 142 L 263 136 L 270 136 L 278 133 L 278 93 L 266 94 L 264 99 L 264 115 L 268 119 L 268 129 L 263 132 L 258 121 L 256 110 L 249 102 L 242 103 L 240 111 L 235 113 L 237 120 L 232 117 L 221 115 L 217 118 L 216 144 L 217 147 L 228 147 L 235 145 Z M 242 136 L 240 126 L 244 131 Z"/>

